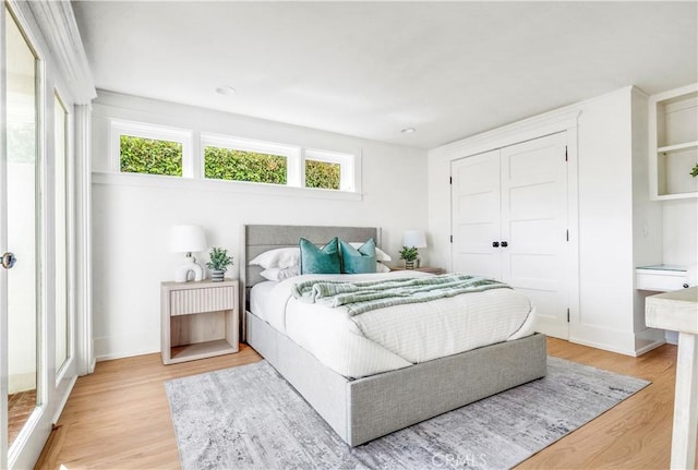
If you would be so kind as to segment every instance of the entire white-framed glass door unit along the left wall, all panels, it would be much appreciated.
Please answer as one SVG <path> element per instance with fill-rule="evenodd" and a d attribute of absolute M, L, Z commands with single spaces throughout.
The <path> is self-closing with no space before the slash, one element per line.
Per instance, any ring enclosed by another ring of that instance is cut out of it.
<path fill-rule="evenodd" d="M 17 3 L 0 79 L 0 468 L 31 468 L 75 376 L 71 106 Z"/>

